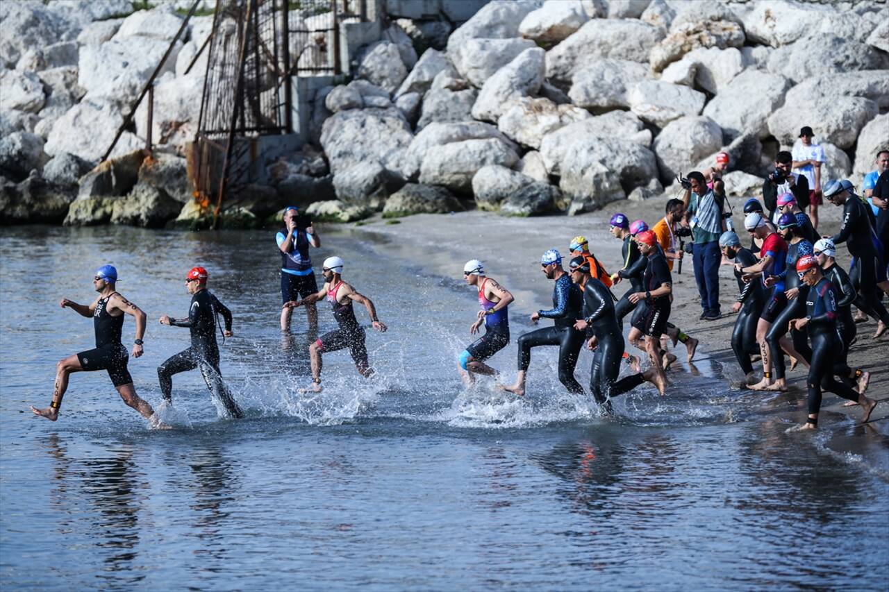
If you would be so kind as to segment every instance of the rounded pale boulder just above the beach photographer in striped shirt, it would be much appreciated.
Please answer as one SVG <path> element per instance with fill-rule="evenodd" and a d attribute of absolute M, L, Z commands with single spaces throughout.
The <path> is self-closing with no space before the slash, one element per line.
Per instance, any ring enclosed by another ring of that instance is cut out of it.
<path fill-rule="evenodd" d="M 667 124 L 654 139 L 653 150 L 661 170 L 661 180 L 669 184 L 680 172 L 689 172 L 703 156 L 722 146 L 719 125 L 703 116 L 680 117 Z"/>

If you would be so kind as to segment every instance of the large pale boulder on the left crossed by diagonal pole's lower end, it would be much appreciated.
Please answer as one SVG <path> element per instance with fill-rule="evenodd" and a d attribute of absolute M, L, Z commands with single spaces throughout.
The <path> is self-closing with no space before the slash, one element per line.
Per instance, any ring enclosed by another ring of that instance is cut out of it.
<path fill-rule="evenodd" d="M 52 124 L 44 151 L 50 156 L 68 152 L 97 163 L 123 123 L 124 116 L 115 104 L 82 100 Z M 143 146 L 144 141 L 132 132 L 124 132 L 111 156 L 121 156 Z"/>

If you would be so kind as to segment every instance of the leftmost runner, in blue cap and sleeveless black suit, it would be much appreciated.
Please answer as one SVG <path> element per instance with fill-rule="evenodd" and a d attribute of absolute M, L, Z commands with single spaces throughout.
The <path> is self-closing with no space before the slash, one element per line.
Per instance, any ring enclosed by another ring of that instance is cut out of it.
<path fill-rule="evenodd" d="M 96 348 L 82 351 L 73 356 L 64 357 L 56 364 L 55 387 L 52 390 L 52 403 L 45 409 L 31 407 L 31 411 L 47 420 L 55 421 L 59 417 L 61 399 L 68 390 L 68 376 L 71 372 L 93 372 L 107 370 L 124 403 L 140 412 L 142 417 L 151 422 L 155 428 L 164 428 L 156 417 L 154 410 L 147 402 L 136 395 L 132 386 L 132 377 L 127 370 L 129 355 L 121 343 L 124 330 L 124 314 L 136 319 L 136 340 L 132 346 L 132 356 L 142 355 L 142 337 L 145 336 L 145 313 L 135 304 L 126 300 L 116 292 L 117 270 L 113 266 L 100 267 L 92 276 L 92 287 L 99 296 L 92 304 L 77 304 L 74 300 L 63 298 L 59 306 L 71 308 L 80 316 L 92 316 L 92 324 L 96 333 Z"/>

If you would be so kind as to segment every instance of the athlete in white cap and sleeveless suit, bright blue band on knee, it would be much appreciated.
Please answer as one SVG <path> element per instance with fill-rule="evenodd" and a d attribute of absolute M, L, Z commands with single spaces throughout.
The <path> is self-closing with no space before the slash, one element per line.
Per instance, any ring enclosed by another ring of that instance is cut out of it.
<path fill-rule="evenodd" d="M 485 266 L 480 260 L 467 261 L 463 266 L 463 280 L 476 288 L 478 306 L 475 323 L 469 325 L 469 334 L 475 335 L 485 325 L 485 334 L 469 344 L 460 355 L 458 372 L 463 382 L 472 386 L 474 374 L 493 376 L 497 373 L 485 360 L 505 348 L 509 343 L 509 303 L 513 297 L 509 291 L 492 278 L 485 276 Z"/>

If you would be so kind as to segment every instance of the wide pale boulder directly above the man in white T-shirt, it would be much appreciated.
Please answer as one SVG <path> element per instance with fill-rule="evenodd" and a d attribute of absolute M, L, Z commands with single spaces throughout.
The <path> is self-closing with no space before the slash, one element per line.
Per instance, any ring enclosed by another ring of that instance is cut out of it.
<path fill-rule="evenodd" d="M 798 102 L 775 111 L 769 117 L 769 132 L 782 144 L 797 139 L 804 125 L 812 127 L 822 141 L 840 148 L 850 148 L 858 132 L 877 115 L 877 103 L 858 97 L 832 97 L 830 101 L 815 99 Z"/>

